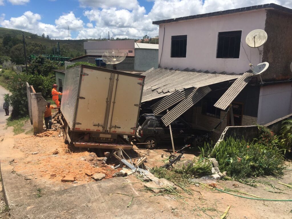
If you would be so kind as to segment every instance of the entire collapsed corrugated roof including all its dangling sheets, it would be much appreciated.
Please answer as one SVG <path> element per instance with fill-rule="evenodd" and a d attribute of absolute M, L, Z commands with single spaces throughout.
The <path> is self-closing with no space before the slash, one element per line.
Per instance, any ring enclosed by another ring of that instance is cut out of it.
<path fill-rule="evenodd" d="M 155 115 L 178 103 L 161 118 L 166 126 L 207 95 L 211 91 L 209 85 L 234 81 L 214 105 L 225 110 L 254 77 L 250 71 L 243 75 L 236 75 L 225 72 L 202 72 L 194 69 L 180 71 L 167 68 L 149 69 L 142 75 L 146 76 L 142 102 L 164 97 L 151 106 Z"/>

